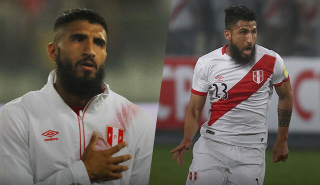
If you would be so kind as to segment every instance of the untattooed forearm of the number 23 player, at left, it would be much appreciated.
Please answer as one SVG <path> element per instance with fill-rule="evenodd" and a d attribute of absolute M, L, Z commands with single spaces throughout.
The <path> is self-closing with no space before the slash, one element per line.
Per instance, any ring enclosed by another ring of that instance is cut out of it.
<path fill-rule="evenodd" d="M 199 127 L 201 110 L 187 108 L 184 118 L 183 140 L 192 140 Z"/>

